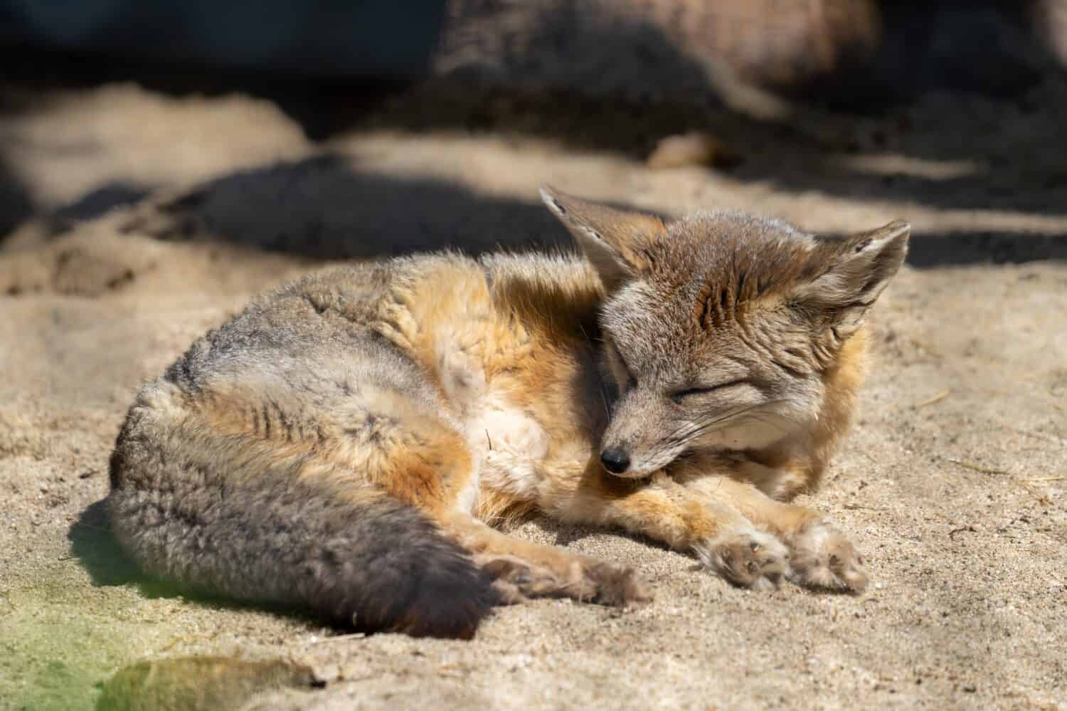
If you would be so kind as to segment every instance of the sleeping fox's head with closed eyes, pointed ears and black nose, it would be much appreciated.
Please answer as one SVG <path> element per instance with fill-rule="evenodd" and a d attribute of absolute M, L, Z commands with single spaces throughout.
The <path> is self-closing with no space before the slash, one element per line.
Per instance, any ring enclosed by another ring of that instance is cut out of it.
<path fill-rule="evenodd" d="M 664 223 L 551 188 L 541 196 L 607 291 L 600 320 L 619 399 L 601 460 L 633 478 L 686 453 L 760 449 L 806 431 L 910 233 L 892 222 L 821 238 L 739 212 Z"/>

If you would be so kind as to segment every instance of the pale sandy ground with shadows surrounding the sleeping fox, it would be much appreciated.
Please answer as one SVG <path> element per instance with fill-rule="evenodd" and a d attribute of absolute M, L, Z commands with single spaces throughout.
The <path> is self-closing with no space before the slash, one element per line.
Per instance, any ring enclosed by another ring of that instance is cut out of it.
<path fill-rule="evenodd" d="M 0 705 L 91 708 L 125 665 L 218 653 L 294 660 L 328 682 L 251 701 L 264 709 L 1067 708 L 1067 91 L 1041 92 L 935 97 L 832 139 L 712 116 L 744 159 L 728 171 L 648 170 L 658 137 L 621 113 L 614 143 L 528 116 L 522 132 L 462 116 L 413 128 L 402 107 L 312 143 L 244 95 L 107 85 L 14 101 L 0 116 L 0 205 L 25 218 L 0 242 Z M 869 555 L 867 592 L 734 589 L 648 541 L 531 521 L 516 535 L 631 564 L 655 601 L 503 609 L 469 643 L 332 638 L 122 559 L 100 502 L 139 382 L 325 259 L 564 242 L 536 203 L 542 181 L 832 233 L 913 222 L 862 414 L 805 500 Z"/>

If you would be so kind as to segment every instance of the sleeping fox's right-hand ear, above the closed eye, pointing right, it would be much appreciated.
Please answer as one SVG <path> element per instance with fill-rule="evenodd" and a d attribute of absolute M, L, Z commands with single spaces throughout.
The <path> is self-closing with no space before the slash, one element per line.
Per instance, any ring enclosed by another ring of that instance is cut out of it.
<path fill-rule="evenodd" d="M 910 234 L 911 225 L 896 220 L 816 250 L 817 275 L 796 286 L 790 301 L 847 337 L 901 268 Z"/>

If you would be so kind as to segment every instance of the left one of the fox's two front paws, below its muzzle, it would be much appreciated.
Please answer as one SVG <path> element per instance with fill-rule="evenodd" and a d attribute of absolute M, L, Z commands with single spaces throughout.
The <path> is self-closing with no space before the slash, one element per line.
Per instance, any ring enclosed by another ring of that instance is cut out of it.
<path fill-rule="evenodd" d="M 755 528 L 726 531 L 694 550 L 707 568 L 740 587 L 776 588 L 790 574 L 789 549 Z"/>

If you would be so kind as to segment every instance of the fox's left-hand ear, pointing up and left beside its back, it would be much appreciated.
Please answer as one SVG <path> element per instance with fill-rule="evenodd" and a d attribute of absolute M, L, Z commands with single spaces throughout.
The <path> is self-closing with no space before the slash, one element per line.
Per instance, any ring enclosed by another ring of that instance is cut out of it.
<path fill-rule="evenodd" d="M 541 187 L 541 200 L 559 218 L 600 273 L 608 291 L 648 267 L 648 251 L 666 233 L 663 220 L 589 203 Z"/>

